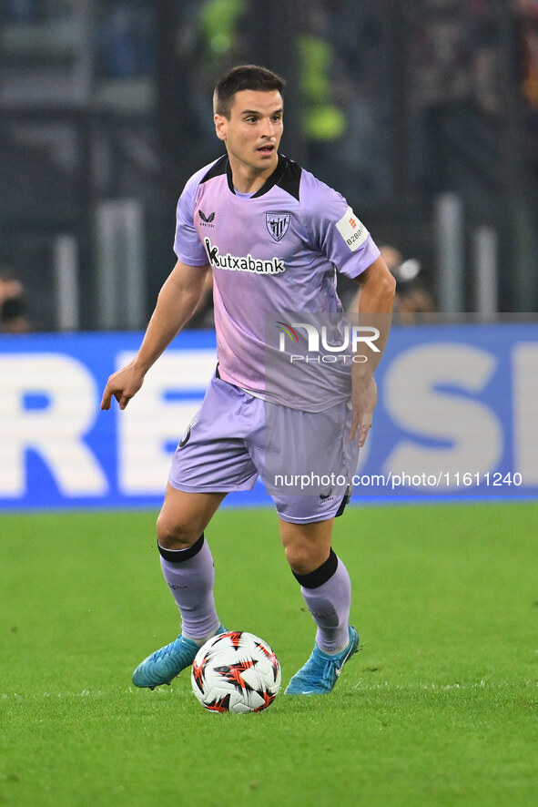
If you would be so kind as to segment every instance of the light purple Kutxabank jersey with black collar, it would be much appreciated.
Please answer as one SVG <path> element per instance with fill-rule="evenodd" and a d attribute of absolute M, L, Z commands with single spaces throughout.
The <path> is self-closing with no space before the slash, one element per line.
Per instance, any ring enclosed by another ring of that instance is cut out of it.
<path fill-rule="evenodd" d="M 314 403 L 311 389 L 299 392 L 300 384 L 289 379 L 280 383 L 279 372 L 268 383 L 266 375 L 271 346 L 264 315 L 276 312 L 279 322 L 283 312 L 301 312 L 303 319 L 340 312 L 335 269 L 355 278 L 380 255 L 337 191 L 280 155 L 262 188 L 241 195 L 224 156 L 188 180 L 178 201 L 174 249 L 190 266 L 212 267 L 222 379 L 311 411 L 349 394 L 349 364 L 331 368 L 330 383 L 320 385 Z"/>

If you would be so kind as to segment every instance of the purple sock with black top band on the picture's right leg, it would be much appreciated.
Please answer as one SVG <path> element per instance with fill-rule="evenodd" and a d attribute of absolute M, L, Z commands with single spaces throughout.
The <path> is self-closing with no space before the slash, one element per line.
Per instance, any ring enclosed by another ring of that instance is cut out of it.
<path fill-rule="evenodd" d="M 344 649 L 350 640 L 351 583 L 347 568 L 332 550 L 330 552 L 329 559 L 319 569 L 310 575 L 295 577 L 318 626 L 318 646 L 327 653 L 335 653 Z"/>

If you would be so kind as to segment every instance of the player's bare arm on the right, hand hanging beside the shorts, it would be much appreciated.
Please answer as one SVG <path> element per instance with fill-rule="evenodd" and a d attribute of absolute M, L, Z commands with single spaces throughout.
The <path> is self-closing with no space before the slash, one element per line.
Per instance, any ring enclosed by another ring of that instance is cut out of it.
<path fill-rule="evenodd" d="M 359 430 L 359 445 L 365 443 L 371 428 L 371 419 L 377 403 L 377 386 L 374 373 L 385 350 L 389 332 L 391 331 L 391 314 L 394 302 L 396 281 L 391 275 L 385 261 L 380 257 L 371 263 L 355 278 L 360 285 L 354 305 L 359 312 L 360 327 L 371 330 L 371 334 L 379 332 L 375 337 L 374 351 L 368 342 L 363 342 L 361 354 L 366 355 L 364 363 L 353 363 L 351 369 L 351 403 L 353 416 L 350 427 L 350 440 L 355 438 Z M 368 336 L 369 331 L 365 330 Z"/>

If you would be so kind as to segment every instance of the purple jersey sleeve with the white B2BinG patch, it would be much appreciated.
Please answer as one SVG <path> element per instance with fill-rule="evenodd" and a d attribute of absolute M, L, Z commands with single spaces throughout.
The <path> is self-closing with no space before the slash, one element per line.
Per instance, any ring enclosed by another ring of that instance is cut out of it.
<path fill-rule="evenodd" d="M 304 173 L 307 175 L 305 224 L 314 244 L 338 271 L 349 278 L 358 277 L 380 257 L 380 250 L 346 199 L 308 172 Z"/>

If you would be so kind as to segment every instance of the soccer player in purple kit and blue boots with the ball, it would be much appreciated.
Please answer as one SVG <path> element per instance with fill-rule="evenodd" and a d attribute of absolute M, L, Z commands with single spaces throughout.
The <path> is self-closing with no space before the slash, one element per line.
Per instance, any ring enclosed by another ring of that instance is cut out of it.
<path fill-rule="evenodd" d="M 307 445 L 307 460 L 312 419 L 329 413 L 330 424 L 333 411 L 343 412 L 345 426 L 340 414 L 334 422 L 337 437 L 345 428 L 345 440 L 340 434 L 340 443 L 331 439 L 328 445 L 343 446 L 350 475 L 371 427 L 373 372 L 390 324 L 378 329 L 377 351 L 368 362 L 334 365 L 330 384 L 315 387 L 315 400 L 308 384 L 302 397 L 299 384 L 290 393 L 279 373 L 266 383 L 266 312 L 340 312 L 335 267 L 360 284 L 361 322 L 373 322 L 369 318 L 380 312 L 390 322 L 394 296 L 391 273 L 347 201 L 279 154 L 284 88 L 279 76 L 252 65 L 235 67 L 218 81 L 214 119 L 226 153 L 188 180 L 177 209 L 178 262 L 159 292 L 136 358 L 110 376 L 103 394 L 102 409 L 110 408 L 113 396 L 125 409 L 196 309 L 211 268 L 217 372 L 178 444 L 157 519 L 161 567 L 182 632 L 138 665 L 138 687 L 169 683 L 208 638 L 225 631 L 204 531 L 228 492 L 251 489 L 259 475 L 265 480 L 268 407 L 271 423 L 282 424 L 277 439 L 284 434 L 301 451 Z M 313 383 L 320 383 L 317 376 Z M 289 455 L 289 444 L 284 447 Z M 350 577 L 331 548 L 333 521 L 347 492 L 346 484 L 321 495 L 272 493 L 289 567 L 317 626 L 310 659 L 289 681 L 288 694 L 330 692 L 357 650 L 359 637 L 349 625 Z"/>

